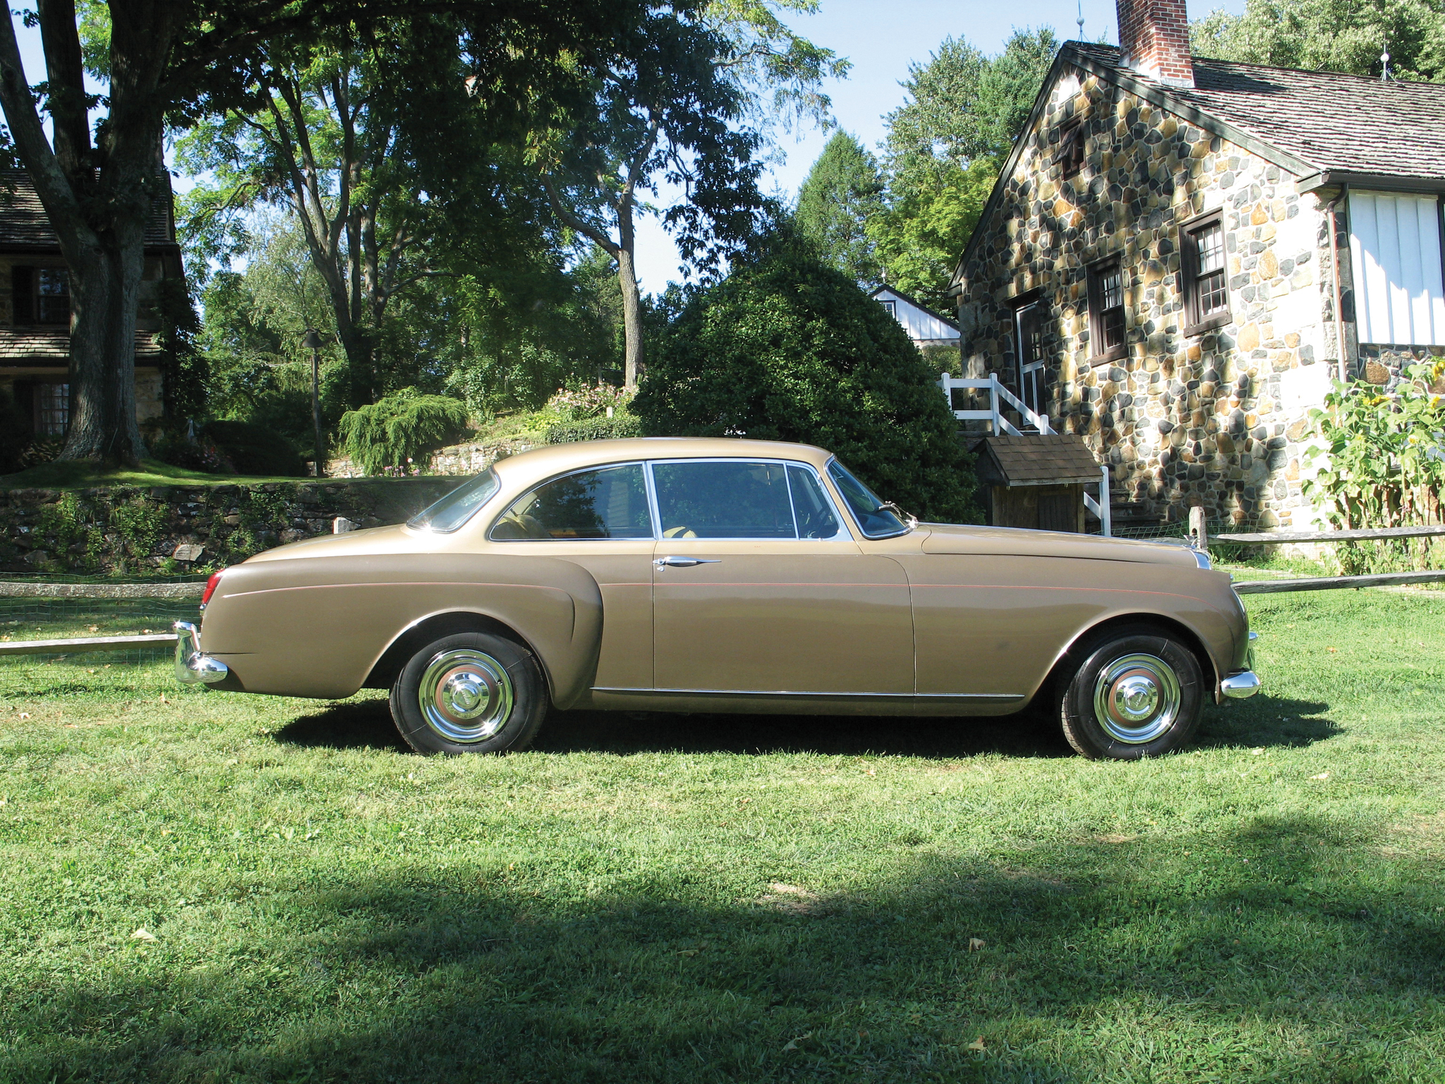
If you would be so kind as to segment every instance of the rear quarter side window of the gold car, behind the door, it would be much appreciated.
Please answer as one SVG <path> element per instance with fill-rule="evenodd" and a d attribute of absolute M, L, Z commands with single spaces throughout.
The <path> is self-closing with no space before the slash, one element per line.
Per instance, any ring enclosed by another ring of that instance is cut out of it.
<path fill-rule="evenodd" d="M 652 538 L 642 464 L 553 478 L 512 502 L 493 525 L 497 542 Z"/>

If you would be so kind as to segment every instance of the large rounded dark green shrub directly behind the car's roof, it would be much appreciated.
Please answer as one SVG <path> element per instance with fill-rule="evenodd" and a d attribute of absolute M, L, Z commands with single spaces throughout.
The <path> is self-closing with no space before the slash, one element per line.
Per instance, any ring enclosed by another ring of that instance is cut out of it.
<path fill-rule="evenodd" d="M 922 519 L 977 520 L 972 465 L 935 380 L 881 305 L 779 246 L 688 301 L 631 410 L 656 435 L 816 444 Z"/>

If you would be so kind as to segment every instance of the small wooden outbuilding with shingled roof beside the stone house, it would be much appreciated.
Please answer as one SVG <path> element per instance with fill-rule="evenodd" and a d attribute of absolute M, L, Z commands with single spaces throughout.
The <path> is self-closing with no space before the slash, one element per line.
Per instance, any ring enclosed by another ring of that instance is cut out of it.
<path fill-rule="evenodd" d="M 984 436 L 974 468 L 990 526 L 1084 533 L 1084 487 L 1101 474 L 1082 436 Z"/>

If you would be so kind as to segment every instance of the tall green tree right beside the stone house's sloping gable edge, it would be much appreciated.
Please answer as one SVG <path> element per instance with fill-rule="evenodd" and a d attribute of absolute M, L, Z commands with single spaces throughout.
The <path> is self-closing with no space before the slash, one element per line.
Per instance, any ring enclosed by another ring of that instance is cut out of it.
<path fill-rule="evenodd" d="M 868 221 L 890 283 L 948 308 L 948 280 L 1055 52 L 1049 27 L 1016 30 L 994 58 L 949 38 L 909 69 L 910 100 L 887 116 L 887 210 Z"/>

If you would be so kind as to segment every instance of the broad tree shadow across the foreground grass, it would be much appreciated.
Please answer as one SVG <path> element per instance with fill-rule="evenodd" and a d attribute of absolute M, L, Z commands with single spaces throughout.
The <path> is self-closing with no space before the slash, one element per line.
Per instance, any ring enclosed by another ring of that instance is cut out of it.
<path fill-rule="evenodd" d="M 831 885 L 783 853 L 629 873 L 603 844 L 551 893 L 520 854 L 455 848 L 249 873 L 285 922 L 221 967 L 158 925 L 144 968 L 36 976 L 0 1006 L 0 1078 L 1435 1080 L 1441 863 L 1379 843 L 1299 814 Z"/>

